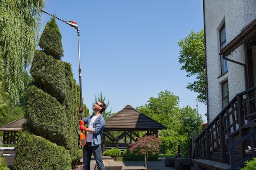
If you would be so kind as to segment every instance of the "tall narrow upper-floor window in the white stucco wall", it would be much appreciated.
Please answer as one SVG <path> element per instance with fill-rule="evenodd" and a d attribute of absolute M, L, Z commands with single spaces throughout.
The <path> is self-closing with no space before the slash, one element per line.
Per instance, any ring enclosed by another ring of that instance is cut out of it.
<path fill-rule="evenodd" d="M 220 29 L 220 50 L 227 45 L 226 42 L 226 26 L 222 26 Z M 227 60 L 223 59 L 222 55 L 220 56 L 220 68 L 221 74 L 227 72 Z"/>

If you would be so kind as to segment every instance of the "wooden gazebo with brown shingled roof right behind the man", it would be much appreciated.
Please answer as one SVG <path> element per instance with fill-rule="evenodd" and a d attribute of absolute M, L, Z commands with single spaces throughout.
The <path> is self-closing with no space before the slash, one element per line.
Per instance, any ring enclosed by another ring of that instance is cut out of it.
<path fill-rule="evenodd" d="M 167 128 L 135 110 L 130 105 L 127 105 L 124 109 L 106 119 L 102 137 L 102 150 L 119 148 L 123 151 L 128 147 L 128 144 L 131 144 L 132 141 L 136 141 L 137 138 L 141 137 L 136 132 L 146 131 L 145 135 L 155 135 L 158 137 L 158 130 L 161 129 Z M 110 131 L 123 131 L 123 133 L 118 137 L 114 137 L 111 135 Z M 108 137 L 112 143 L 106 144 L 105 137 Z"/>

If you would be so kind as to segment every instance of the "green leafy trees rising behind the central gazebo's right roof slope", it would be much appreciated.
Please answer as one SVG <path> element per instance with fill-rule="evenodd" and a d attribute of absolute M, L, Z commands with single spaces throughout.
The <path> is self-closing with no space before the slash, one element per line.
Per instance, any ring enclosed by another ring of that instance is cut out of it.
<path fill-rule="evenodd" d="M 191 138 L 191 134 L 200 131 L 203 123 L 202 116 L 197 119 L 196 109 L 189 106 L 179 107 L 180 98 L 165 90 L 158 94 L 157 98 L 150 97 L 148 104 L 136 107 L 146 116 L 166 126 L 159 136 L 186 136 Z"/>

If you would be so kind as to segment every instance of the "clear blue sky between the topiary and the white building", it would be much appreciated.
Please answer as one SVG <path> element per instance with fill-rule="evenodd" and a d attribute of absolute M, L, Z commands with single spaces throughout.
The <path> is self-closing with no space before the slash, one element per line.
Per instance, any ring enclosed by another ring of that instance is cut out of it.
<path fill-rule="evenodd" d="M 126 105 L 145 105 L 165 90 L 179 96 L 180 108 L 196 109 L 198 94 L 186 89 L 195 77 L 180 70 L 177 42 L 203 28 L 202 0 L 48 0 L 45 11 L 79 26 L 82 95 L 90 113 L 101 92 L 110 101 L 107 111 L 115 113 Z M 43 14 L 42 30 L 50 18 Z M 79 84 L 77 30 L 56 22 L 62 60 L 72 64 Z M 198 102 L 205 122 L 206 110 Z"/>

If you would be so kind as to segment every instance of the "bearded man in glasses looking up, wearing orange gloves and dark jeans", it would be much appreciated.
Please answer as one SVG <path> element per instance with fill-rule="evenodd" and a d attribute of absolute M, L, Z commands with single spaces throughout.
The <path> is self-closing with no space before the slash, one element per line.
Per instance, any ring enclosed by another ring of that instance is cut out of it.
<path fill-rule="evenodd" d="M 90 170 L 92 153 L 99 170 L 105 170 L 102 161 L 101 134 L 106 122 L 101 113 L 106 110 L 106 104 L 99 101 L 94 105 L 93 110 L 94 115 L 83 119 L 87 127 L 80 125 L 80 129 L 86 131 L 86 144 L 83 146 L 83 170 Z M 80 111 L 83 111 L 83 108 L 79 107 Z"/>

